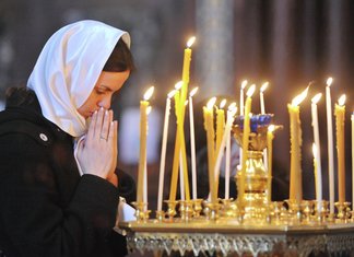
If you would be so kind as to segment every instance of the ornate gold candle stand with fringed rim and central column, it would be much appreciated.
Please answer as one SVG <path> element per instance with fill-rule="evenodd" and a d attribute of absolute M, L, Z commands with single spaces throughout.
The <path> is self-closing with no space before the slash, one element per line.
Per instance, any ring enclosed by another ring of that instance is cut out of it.
<path fill-rule="evenodd" d="M 330 214 L 328 201 L 271 201 L 267 197 L 270 176 L 262 151 L 271 115 L 251 120 L 245 172 L 244 198 L 217 202 L 167 200 L 166 212 L 149 219 L 145 203 L 135 203 L 137 221 L 120 222 L 128 248 L 158 256 L 353 256 L 354 218 L 349 202 L 337 203 Z M 233 128 L 238 143 L 243 129 Z M 240 176 L 236 176 L 239 184 Z"/>

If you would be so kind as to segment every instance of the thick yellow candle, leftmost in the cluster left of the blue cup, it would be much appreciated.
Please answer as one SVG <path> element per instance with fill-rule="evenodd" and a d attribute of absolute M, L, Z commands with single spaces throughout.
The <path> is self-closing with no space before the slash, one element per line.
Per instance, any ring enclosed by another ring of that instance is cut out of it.
<path fill-rule="evenodd" d="M 203 107 L 204 116 L 204 129 L 206 131 L 206 148 L 208 148 L 208 174 L 209 174 L 209 187 L 211 202 L 215 203 L 217 199 L 215 198 L 215 185 L 214 185 L 214 156 L 215 156 L 215 132 L 214 132 L 214 118 L 213 118 L 213 106 L 215 104 L 216 97 L 212 97 L 206 106 Z"/>

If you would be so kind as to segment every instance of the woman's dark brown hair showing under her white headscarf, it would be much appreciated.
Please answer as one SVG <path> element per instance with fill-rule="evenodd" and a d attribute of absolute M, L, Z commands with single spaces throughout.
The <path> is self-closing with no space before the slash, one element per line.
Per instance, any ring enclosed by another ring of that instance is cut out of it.
<path fill-rule="evenodd" d="M 122 72 L 135 69 L 134 60 L 127 44 L 120 38 L 111 51 L 103 71 Z"/>

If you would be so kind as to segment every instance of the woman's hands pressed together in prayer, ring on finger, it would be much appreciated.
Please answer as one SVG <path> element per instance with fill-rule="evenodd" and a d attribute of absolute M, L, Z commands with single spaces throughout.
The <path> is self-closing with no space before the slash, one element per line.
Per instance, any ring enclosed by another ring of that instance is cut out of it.
<path fill-rule="evenodd" d="M 118 124 L 113 116 L 113 110 L 103 107 L 93 114 L 85 140 L 79 145 L 78 160 L 83 174 L 99 176 L 117 186 Z"/>

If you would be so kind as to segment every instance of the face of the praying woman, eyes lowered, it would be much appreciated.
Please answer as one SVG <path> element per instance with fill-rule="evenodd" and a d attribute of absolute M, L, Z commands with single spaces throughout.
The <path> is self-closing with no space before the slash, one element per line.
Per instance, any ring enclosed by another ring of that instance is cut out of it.
<path fill-rule="evenodd" d="M 129 70 L 122 72 L 103 71 L 86 102 L 78 108 L 79 114 L 88 118 L 99 107 L 109 109 L 113 94 L 121 89 L 129 74 Z"/>

